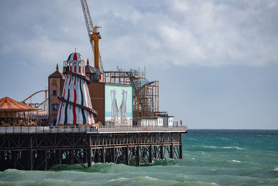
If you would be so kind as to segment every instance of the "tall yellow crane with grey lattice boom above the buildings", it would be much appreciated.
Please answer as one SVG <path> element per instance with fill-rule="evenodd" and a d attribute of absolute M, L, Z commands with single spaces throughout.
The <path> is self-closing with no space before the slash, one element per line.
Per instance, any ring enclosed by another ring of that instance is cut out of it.
<path fill-rule="evenodd" d="M 101 72 L 104 72 L 104 67 L 102 65 L 101 56 L 99 53 L 99 39 L 101 39 L 101 36 L 99 34 L 99 28 L 101 28 L 101 26 L 94 26 L 92 24 L 92 18 L 89 12 L 87 1 L 86 0 L 80 0 L 80 1 L 83 9 L 88 35 L 90 38 L 92 52 L 94 54 L 95 68 L 99 68 Z"/>

